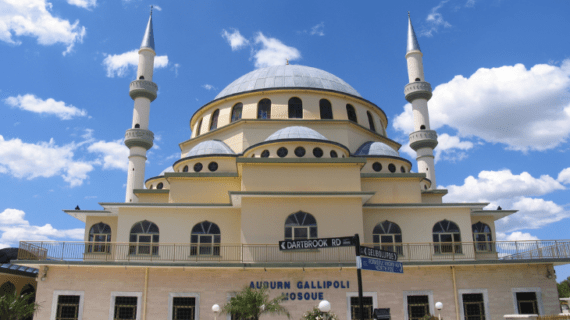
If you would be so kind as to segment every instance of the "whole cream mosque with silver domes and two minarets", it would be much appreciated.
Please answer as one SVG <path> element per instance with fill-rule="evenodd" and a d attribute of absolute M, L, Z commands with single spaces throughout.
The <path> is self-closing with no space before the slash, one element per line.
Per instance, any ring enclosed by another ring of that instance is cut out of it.
<path fill-rule="evenodd" d="M 230 320 L 212 306 L 246 286 L 286 295 L 292 319 L 325 299 L 348 320 L 372 319 L 375 308 L 406 320 L 560 312 L 554 266 L 570 262 L 570 243 L 496 241 L 495 221 L 515 211 L 444 202 L 447 190 L 436 188 L 432 90 L 409 18 L 415 163 L 388 138 L 376 104 L 333 74 L 284 63 L 238 78 L 198 109 L 173 172 L 145 180 L 155 54 L 151 15 L 129 90 L 125 202 L 64 210 L 85 222 L 83 242 L 20 243 L 17 263 L 39 270 L 34 319 Z M 355 234 L 404 266 L 362 271 L 364 309 L 353 247 L 278 246 Z"/>

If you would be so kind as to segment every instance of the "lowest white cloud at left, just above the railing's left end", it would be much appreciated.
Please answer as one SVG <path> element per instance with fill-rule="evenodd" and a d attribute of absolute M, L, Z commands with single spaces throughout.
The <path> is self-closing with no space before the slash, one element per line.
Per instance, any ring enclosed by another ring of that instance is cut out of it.
<path fill-rule="evenodd" d="M 21 240 L 83 240 L 85 229 L 55 229 L 51 224 L 30 225 L 25 213 L 18 209 L 5 209 L 0 213 L 0 248 L 17 247 Z"/>

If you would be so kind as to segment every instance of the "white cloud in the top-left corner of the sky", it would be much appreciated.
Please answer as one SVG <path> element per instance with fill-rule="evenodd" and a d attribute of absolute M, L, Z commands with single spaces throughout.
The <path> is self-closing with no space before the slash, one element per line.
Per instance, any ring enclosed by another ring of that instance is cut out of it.
<path fill-rule="evenodd" d="M 78 1 L 80 0 L 72 0 Z M 19 45 L 14 37 L 30 36 L 37 38 L 41 45 L 62 43 L 67 46 L 63 55 L 68 54 L 76 43 L 82 43 L 85 27 L 79 21 L 54 17 L 50 12 L 52 4 L 46 0 L 3 0 L 0 2 L 0 40 Z"/>

